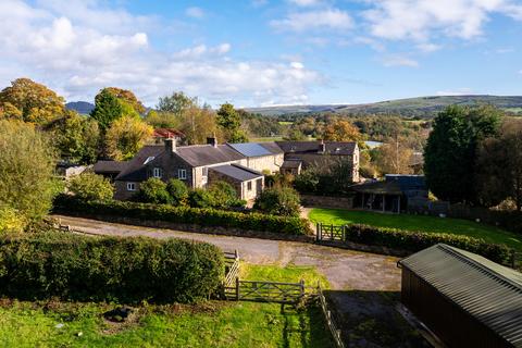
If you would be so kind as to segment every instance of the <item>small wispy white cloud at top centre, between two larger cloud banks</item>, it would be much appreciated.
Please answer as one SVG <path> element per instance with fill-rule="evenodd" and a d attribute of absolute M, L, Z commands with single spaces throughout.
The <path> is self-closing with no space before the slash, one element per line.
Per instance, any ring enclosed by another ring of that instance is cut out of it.
<path fill-rule="evenodd" d="M 347 30 L 353 27 L 351 16 L 338 9 L 289 13 L 283 20 L 274 20 L 270 25 L 278 30 L 301 33 L 313 29 Z"/>

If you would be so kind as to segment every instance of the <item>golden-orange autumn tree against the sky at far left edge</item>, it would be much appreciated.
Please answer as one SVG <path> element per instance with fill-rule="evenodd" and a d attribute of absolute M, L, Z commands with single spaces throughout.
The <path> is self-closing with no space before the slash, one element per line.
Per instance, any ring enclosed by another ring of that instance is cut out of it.
<path fill-rule="evenodd" d="M 0 117 L 44 125 L 64 111 L 62 97 L 29 78 L 17 78 L 0 91 Z"/>

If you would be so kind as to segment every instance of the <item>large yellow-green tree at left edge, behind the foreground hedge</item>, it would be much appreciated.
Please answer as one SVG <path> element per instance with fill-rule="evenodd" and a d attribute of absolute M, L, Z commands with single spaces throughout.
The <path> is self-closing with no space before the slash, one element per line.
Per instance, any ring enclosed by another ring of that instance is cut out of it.
<path fill-rule="evenodd" d="M 0 206 L 34 221 L 46 215 L 57 194 L 55 153 L 29 124 L 0 121 Z"/>

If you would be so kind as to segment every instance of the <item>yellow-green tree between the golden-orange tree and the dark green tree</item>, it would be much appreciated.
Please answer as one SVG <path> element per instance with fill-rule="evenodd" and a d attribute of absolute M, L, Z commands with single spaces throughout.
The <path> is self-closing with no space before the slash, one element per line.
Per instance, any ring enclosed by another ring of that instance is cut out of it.
<path fill-rule="evenodd" d="M 53 140 L 60 157 L 74 163 L 91 164 L 98 157 L 100 130 L 98 123 L 67 111 L 52 126 Z"/>

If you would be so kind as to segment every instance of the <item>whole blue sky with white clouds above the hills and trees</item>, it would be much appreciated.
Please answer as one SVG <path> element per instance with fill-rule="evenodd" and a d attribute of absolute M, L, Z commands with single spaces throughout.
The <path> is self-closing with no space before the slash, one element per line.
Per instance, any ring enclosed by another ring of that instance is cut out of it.
<path fill-rule="evenodd" d="M 0 0 L 0 88 L 148 107 L 522 94 L 519 0 Z"/>

